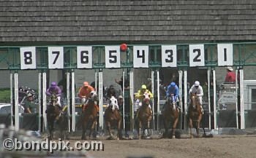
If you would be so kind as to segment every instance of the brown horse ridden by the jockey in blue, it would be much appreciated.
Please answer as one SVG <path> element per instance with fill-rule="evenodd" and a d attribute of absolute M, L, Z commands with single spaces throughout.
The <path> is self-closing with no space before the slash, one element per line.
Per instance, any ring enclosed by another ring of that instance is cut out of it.
<path fill-rule="evenodd" d="M 163 134 L 163 138 L 176 138 L 176 126 L 178 124 L 178 116 L 180 114 L 180 110 L 177 107 L 176 98 L 172 95 L 170 98 L 167 98 L 165 103 L 165 108 L 163 110 L 163 118 L 164 118 L 164 127 L 165 133 Z M 172 122 L 172 132 L 169 136 L 169 127 L 170 122 Z"/>

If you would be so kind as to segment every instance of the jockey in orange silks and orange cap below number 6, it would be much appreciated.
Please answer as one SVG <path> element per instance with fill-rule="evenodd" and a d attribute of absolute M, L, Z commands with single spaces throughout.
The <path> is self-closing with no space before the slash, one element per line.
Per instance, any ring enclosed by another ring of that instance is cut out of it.
<path fill-rule="evenodd" d="M 82 100 L 83 111 L 86 110 L 88 99 L 91 97 L 91 92 L 94 92 L 94 87 L 91 87 L 88 82 L 83 82 L 83 86 L 80 87 L 78 91 L 78 97 Z M 99 107 L 94 105 L 97 108 L 97 112 L 99 112 Z"/>

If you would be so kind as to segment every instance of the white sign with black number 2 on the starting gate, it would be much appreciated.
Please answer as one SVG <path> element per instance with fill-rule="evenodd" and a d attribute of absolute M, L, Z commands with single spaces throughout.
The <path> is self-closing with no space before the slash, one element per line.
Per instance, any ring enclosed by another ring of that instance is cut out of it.
<path fill-rule="evenodd" d="M 189 66 L 205 66 L 205 52 L 203 44 L 189 45 Z"/>

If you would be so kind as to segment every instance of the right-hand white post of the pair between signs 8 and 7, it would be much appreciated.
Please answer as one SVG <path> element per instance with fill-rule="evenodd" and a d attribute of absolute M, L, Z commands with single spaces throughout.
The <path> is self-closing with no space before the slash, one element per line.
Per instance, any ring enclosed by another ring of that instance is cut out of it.
<path fill-rule="evenodd" d="M 46 130 L 47 128 L 47 118 L 46 118 L 46 72 L 42 73 L 42 119 L 44 122 L 44 127 L 42 130 Z"/>

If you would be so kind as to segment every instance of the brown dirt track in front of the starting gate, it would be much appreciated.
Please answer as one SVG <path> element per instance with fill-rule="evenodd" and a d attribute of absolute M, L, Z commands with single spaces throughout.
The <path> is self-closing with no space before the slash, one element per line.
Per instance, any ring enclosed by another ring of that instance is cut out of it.
<path fill-rule="evenodd" d="M 256 157 L 256 135 L 214 138 L 103 141 L 104 151 L 89 151 L 94 158 L 245 158 Z"/>

